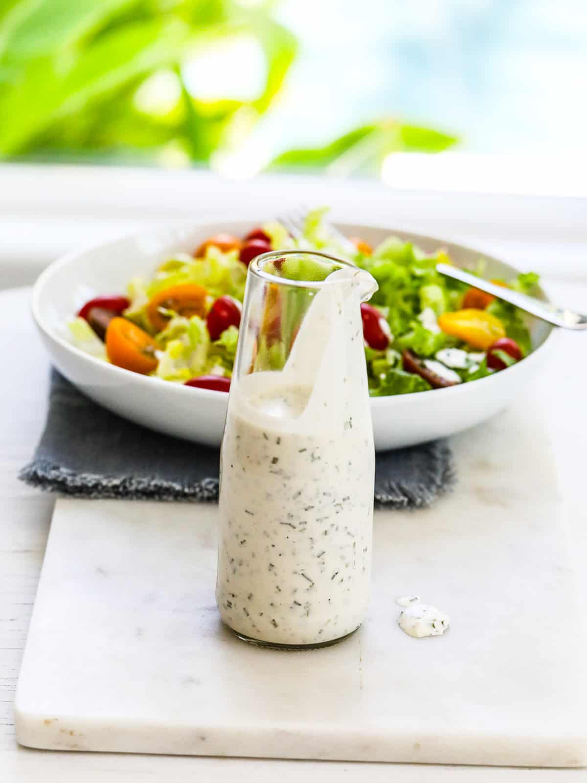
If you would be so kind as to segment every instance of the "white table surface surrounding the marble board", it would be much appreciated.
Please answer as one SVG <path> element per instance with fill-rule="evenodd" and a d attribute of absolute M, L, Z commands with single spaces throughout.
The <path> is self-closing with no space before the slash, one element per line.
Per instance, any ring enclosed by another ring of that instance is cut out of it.
<path fill-rule="evenodd" d="M 488 247 L 489 250 L 489 247 Z M 519 248 L 518 248 L 519 250 Z M 528 247 L 528 254 L 531 248 Z M 587 258 L 574 280 L 546 280 L 556 301 L 587 310 Z M 524 770 L 489 767 L 427 767 L 386 764 L 232 760 L 42 752 L 16 745 L 13 694 L 51 518 L 52 496 L 16 479 L 30 458 L 45 418 L 48 362 L 28 316 L 27 289 L 0 292 L 0 346 L 5 370 L 0 384 L 0 781 L 159 781 L 182 783 L 251 780 L 283 783 L 344 781 L 579 781 L 587 770 Z M 546 426 L 559 474 L 560 502 L 571 521 L 579 589 L 587 597 L 585 388 L 587 338 L 565 334 L 553 364 L 540 378 Z M 515 481 L 515 476 L 512 477 Z M 458 489 L 456 490 L 458 492 Z M 388 512 L 393 513 L 393 512 Z"/>

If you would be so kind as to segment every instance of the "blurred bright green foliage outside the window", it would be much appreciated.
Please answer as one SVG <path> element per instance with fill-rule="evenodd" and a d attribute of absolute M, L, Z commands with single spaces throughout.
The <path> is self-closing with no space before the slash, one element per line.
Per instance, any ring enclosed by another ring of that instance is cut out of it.
<path fill-rule="evenodd" d="M 0 0 L 0 157 L 230 157 L 275 103 L 297 53 L 274 6 L 273 0 Z M 265 57 L 260 94 L 213 102 L 190 95 L 182 67 L 196 49 L 243 34 Z M 150 111 L 137 91 L 169 69 L 181 96 Z M 439 151 L 454 141 L 386 120 L 323 147 L 283 153 L 272 165 L 348 175 L 378 171 L 394 150 Z"/>

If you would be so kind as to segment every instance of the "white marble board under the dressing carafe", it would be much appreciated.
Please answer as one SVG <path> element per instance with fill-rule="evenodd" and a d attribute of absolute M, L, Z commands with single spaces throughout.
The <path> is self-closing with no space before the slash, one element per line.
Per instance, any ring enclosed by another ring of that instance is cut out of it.
<path fill-rule="evenodd" d="M 456 439 L 459 486 L 380 512 L 369 617 L 250 647 L 214 604 L 216 507 L 59 500 L 16 693 L 45 749 L 576 767 L 582 617 L 548 442 L 524 403 Z M 451 615 L 412 639 L 394 598 Z"/>

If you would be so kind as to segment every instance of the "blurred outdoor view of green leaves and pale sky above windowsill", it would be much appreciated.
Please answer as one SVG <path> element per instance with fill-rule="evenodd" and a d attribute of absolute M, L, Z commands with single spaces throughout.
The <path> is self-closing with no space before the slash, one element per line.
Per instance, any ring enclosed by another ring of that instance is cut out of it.
<path fill-rule="evenodd" d="M 9 0 L 0 157 L 246 179 L 455 139 L 582 154 L 586 42 L 585 0 Z"/>

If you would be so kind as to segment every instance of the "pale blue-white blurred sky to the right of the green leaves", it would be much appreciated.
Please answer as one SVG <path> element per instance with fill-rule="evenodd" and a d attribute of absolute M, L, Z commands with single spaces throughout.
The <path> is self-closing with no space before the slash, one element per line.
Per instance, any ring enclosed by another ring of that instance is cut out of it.
<path fill-rule="evenodd" d="M 585 0 L 285 0 L 301 41 L 265 119 L 279 149 L 391 115 L 487 153 L 585 153 Z"/>

